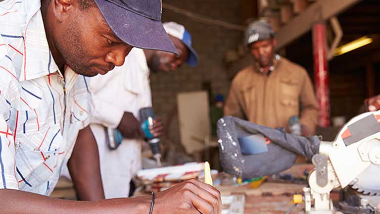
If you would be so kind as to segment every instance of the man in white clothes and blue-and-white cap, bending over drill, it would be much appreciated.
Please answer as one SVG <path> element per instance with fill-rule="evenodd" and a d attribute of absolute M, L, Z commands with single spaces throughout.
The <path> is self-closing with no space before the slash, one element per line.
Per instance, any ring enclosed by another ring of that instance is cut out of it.
<path fill-rule="evenodd" d="M 149 71 L 171 72 L 184 62 L 190 66 L 198 63 L 198 56 L 191 47 L 190 33 L 185 27 L 175 22 L 166 22 L 163 26 L 179 55 L 135 48 L 126 57 L 124 65 L 91 79 L 94 110 L 90 124 L 99 149 L 105 198 L 128 197 L 130 181 L 141 169 L 144 134 L 137 118 L 140 118 L 141 108 L 152 106 Z M 117 128 L 122 133 L 122 143 L 116 150 L 108 148 L 109 136 L 104 127 Z M 154 121 L 151 133 L 154 137 L 163 134 L 160 120 Z"/>

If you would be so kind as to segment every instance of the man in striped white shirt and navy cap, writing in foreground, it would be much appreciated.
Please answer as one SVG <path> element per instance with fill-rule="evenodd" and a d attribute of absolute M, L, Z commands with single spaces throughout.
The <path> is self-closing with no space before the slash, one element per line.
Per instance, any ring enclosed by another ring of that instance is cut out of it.
<path fill-rule="evenodd" d="M 121 66 L 132 47 L 178 54 L 160 19 L 160 0 L 0 1 L 3 214 L 221 212 L 219 192 L 195 180 L 102 200 L 88 77 Z M 66 163 L 78 197 L 93 202 L 48 197 Z"/>

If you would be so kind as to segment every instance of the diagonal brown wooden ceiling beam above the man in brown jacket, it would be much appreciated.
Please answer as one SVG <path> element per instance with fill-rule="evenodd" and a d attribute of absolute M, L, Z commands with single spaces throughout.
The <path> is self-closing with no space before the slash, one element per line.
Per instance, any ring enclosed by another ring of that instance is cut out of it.
<path fill-rule="evenodd" d="M 309 31 L 313 24 L 325 21 L 361 0 L 317 0 L 277 32 L 277 49 Z"/>

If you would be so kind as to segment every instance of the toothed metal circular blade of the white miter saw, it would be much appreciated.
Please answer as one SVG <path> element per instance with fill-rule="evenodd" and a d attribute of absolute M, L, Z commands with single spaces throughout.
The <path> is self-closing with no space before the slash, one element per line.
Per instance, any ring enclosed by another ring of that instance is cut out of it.
<path fill-rule="evenodd" d="M 350 185 L 365 195 L 380 196 L 380 165 L 371 164 Z"/>

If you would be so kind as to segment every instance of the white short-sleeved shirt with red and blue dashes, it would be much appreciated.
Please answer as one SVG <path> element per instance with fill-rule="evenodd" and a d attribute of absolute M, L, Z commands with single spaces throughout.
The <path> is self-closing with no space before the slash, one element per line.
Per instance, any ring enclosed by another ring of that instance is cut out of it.
<path fill-rule="evenodd" d="M 87 77 L 59 72 L 40 0 L 0 2 L 0 188 L 49 195 L 88 125 Z"/>

